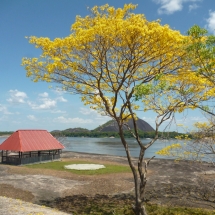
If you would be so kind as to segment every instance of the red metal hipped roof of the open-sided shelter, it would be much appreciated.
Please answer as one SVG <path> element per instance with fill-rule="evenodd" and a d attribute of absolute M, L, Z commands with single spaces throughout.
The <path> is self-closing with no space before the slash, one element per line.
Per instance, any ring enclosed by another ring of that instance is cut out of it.
<path fill-rule="evenodd" d="M 0 145 L 0 150 L 19 152 L 63 148 L 64 146 L 46 130 L 18 130 Z"/>

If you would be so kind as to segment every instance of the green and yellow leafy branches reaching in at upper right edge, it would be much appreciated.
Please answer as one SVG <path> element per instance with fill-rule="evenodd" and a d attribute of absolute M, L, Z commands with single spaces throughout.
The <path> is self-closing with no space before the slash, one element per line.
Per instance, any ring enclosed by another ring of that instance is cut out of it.
<path fill-rule="evenodd" d="M 187 60 L 193 65 L 194 74 L 205 81 L 205 100 L 210 103 L 194 104 L 209 115 L 214 114 L 215 96 L 215 36 L 208 35 L 208 31 L 195 25 L 188 31 L 189 44 L 187 46 Z"/>

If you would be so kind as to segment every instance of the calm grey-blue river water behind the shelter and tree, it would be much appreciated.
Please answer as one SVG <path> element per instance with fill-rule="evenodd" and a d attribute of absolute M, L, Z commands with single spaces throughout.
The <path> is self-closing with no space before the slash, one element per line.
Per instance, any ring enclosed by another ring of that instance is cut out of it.
<path fill-rule="evenodd" d="M 0 144 L 6 138 L 0 137 Z M 133 157 L 139 156 L 139 147 L 135 139 L 127 139 L 130 152 Z M 150 139 L 142 139 L 142 142 L 147 144 Z M 163 158 L 157 154 L 156 151 L 163 147 L 173 143 L 173 141 L 161 141 L 157 140 L 147 151 L 145 157 L 156 156 L 157 158 Z M 62 141 L 66 151 L 74 152 L 86 152 L 95 154 L 108 154 L 117 156 L 126 156 L 124 148 L 119 138 L 81 138 L 81 137 L 68 137 L 65 141 Z"/>

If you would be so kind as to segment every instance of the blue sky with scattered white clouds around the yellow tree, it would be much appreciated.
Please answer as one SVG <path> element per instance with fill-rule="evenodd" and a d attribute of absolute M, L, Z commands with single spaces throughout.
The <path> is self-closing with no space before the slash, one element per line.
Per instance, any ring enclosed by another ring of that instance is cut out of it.
<path fill-rule="evenodd" d="M 0 0 L 0 131 L 94 129 L 110 120 L 84 106 L 78 95 L 50 83 L 34 83 L 26 77 L 21 59 L 40 54 L 25 37 L 66 37 L 76 15 L 89 15 L 95 5 L 118 8 L 126 3 L 138 4 L 134 13 L 149 21 L 160 19 L 182 34 L 195 24 L 215 34 L 214 0 Z M 138 117 L 154 127 L 154 113 L 140 111 Z M 204 120 L 199 111 L 187 111 L 176 115 L 169 130 L 178 130 L 176 124 L 192 128 Z"/>

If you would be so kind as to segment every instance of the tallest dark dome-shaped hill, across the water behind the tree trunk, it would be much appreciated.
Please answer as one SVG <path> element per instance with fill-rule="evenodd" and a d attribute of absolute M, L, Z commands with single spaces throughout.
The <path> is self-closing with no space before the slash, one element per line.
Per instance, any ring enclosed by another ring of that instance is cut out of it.
<path fill-rule="evenodd" d="M 137 127 L 139 130 L 141 131 L 145 131 L 145 132 L 151 132 L 154 131 L 154 129 L 151 127 L 151 125 L 149 125 L 146 121 L 142 120 L 142 119 L 137 119 L 136 121 L 137 123 Z M 130 119 L 128 121 L 128 126 L 133 129 L 133 123 L 132 120 Z M 115 120 L 110 120 L 108 122 L 106 122 L 105 124 L 97 127 L 96 129 L 94 129 L 93 131 L 97 131 L 97 132 L 118 132 L 118 126 Z M 128 130 L 126 126 L 124 126 L 124 130 Z"/>

